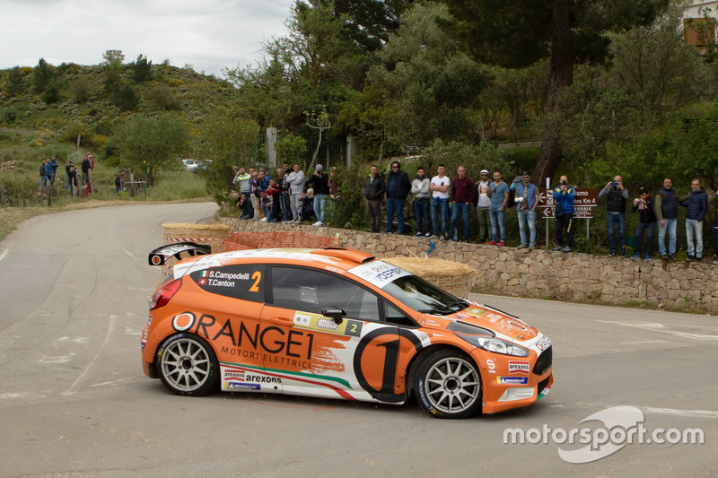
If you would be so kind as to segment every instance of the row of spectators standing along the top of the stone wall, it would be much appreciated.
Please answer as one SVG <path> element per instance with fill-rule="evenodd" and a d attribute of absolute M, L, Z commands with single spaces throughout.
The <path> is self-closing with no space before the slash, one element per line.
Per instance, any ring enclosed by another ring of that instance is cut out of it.
<path fill-rule="evenodd" d="M 476 209 L 478 243 L 488 246 L 506 246 L 506 210 L 515 207 L 518 218 L 520 244 L 518 248 L 537 248 L 537 207 L 540 202 L 538 187 L 531 182 L 529 171 L 523 171 L 510 184 L 503 180 L 502 171 L 482 169 L 477 181 L 467 175 L 465 166 L 456 169 L 453 178 L 447 176 L 446 166 L 439 164 L 432 177 L 424 167 L 416 169 L 416 177 L 408 178 L 398 161 L 392 161 L 386 175 L 377 165 L 370 167 L 363 184 L 366 199 L 368 232 L 404 234 L 416 230 L 416 237 L 436 240 L 468 242 L 471 210 Z M 241 219 L 263 222 L 298 224 L 311 222 L 323 227 L 327 221 L 328 201 L 336 201 L 338 185 L 336 170 L 327 174 L 318 164 L 311 175 L 305 175 L 300 164 L 285 163 L 276 169 L 276 178 L 269 178 L 263 169 L 237 169 L 234 193 Z M 306 189 L 305 189 L 306 188 Z M 549 190 L 553 196 L 555 251 L 564 253 L 574 249 L 574 200 L 576 187 L 566 176 Z M 413 211 L 416 220 L 407 225 L 405 205 Z M 599 199 L 605 198 L 609 256 L 626 257 L 629 237 L 626 236 L 626 209 L 629 193 L 623 178 L 616 175 L 600 190 Z M 386 204 L 382 220 L 382 204 Z M 718 204 L 718 194 L 708 195 L 700 181 L 691 182 L 691 190 L 679 196 L 670 178 L 652 196 L 642 187 L 632 201 L 631 211 L 639 216 L 635 235 L 632 236 L 631 259 L 652 259 L 654 238 L 658 238 L 658 252 L 663 260 L 678 260 L 676 253 L 679 207 L 685 206 L 687 260 L 704 258 L 703 222 L 709 204 Z M 718 264 L 718 214 L 714 217 L 714 264 Z M 382 227 L 383 223 L 383 227 Z M 656 234 L 657 230 L 657 234 Z M 668 247 L 665 239 L 668 235 Z"/>

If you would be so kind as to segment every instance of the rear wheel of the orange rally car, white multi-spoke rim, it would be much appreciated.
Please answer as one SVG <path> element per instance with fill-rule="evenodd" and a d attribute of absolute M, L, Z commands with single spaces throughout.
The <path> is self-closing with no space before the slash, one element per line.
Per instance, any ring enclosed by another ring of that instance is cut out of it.
<path fill-rule="evenodd" d="M 217 357 L 202 337 L 171 335 L 157 351 L 155 363 L 157 375 L 173 394 L 201 396 L 217 389 Z"/>

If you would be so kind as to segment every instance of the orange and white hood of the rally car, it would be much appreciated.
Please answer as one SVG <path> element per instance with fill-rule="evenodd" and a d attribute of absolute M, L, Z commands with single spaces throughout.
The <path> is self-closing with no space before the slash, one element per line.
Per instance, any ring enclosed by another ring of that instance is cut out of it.
<path fill-rule="evenodd" d="M 444 330 L 451 322 L 460 321 L 464 324 L 491 330 L 497 336 L 510 338 L 515 342 L 530 341 L 540 335 L 535 327 L 523 322 L 520 318 L 470 300 L 468 308 L 459 312 L 446 316 L 425 314 L 419 317 L 419 321 L 425 327 Z"/>

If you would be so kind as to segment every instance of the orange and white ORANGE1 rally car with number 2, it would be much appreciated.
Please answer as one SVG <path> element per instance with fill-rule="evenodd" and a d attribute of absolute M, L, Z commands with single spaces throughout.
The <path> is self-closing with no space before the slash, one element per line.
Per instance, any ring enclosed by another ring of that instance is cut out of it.
<path fill-rule="evenodd" d="M 209 254 L 179 243 L 149 261 L 171 257 L 180 260 L 150 300 L 142 361 L 178 395 L 415 396 L 461 418 L 533 404 L 553 384 L 546 335 L 359 250 Z"/>

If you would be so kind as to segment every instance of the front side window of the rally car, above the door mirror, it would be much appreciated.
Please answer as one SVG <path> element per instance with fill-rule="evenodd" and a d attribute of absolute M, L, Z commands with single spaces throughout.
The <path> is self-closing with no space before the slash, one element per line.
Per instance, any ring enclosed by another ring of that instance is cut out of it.
<path fill-rule="evenodd" d="M 272 267 L 272 295 L 276 307 L 316 314 L 339 308 L 346 311 L 346 317 L 380 320 L 377 296 L 337 274 L 276 265 Z"/>

